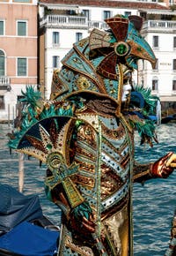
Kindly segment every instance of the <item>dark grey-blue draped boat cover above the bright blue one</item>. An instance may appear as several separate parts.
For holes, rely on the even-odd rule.
[[[43,216],[38,195],[24,195],[8,184],[0,184],[0,195],[0,231]]]

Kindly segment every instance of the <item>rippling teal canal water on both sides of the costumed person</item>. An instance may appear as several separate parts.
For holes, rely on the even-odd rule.
[[[18,154],[9,153],[8,124],[0,124],[0,183],[11,184],[18,189]],[[169,151],[176,153],[176,124],[161,124],[157,129],[158,144],[150,148],[140,146],[136,134],[136,160],[156,161]],[[46,167],[40,167],[33,158],[25,158],[25,194],[38,194],[44,215],[55,224],[60,223],[60,211],[47,200],[44,192]],[[134,184],[134,256],[162,256],[168,248],[172,216],[176,209],[176,171],[167,179],[152,179]]]

